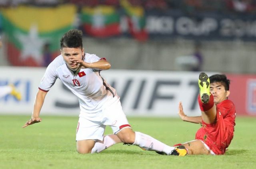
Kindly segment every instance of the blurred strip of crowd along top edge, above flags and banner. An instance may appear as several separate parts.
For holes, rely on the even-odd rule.
[[[256,0],[129,0],[129,2],[132,6],[142,6],[145,10],[256,13]],[[0,6],[18,6],[20,4],[56,6],[65,3],[90,7],[98,5],[120,7],[119,0],[1,0]]]

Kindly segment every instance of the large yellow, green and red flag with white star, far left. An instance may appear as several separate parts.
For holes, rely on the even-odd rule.
[[[8,60],[14,66],[47,66],[60,54],[60,38],[76,17],[74,5],[2,8]]]

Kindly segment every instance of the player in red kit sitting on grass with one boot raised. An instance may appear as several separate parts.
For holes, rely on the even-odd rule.
[[[228,99],[229,84],[230,80],[223,74],[208,78],[207,74],[201,73],[198,80],[198,103],[202,115],[186,116],[182,103],[179,103],[178,113],[183,121],[202,125],[196,132],[195,140],[178,144],[187,149],[188,155],[222,155],[230,145],[234,136],[236,110],[234,103]]]

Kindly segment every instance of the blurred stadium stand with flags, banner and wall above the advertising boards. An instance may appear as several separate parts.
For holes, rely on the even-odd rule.
[[[0,66],[48,66],[60,37],[78,28],[86,52],[117,69],[255,72],[256,0],[0,0],[0,7]]]

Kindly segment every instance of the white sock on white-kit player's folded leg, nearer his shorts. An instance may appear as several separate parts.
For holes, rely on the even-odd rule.
[[[92,153],[100,153],[101,151],[119,142],[120,139],[114,134],[104,135],[103,141],[98,140],[95,142],[95,145],[92,148]]]

